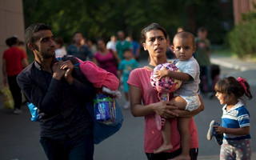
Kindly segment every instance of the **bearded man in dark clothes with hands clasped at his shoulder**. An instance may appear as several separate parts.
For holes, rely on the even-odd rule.
[[[18,74],[18,85],[28,102],[38,107],[40,142],[49,159],[93,159],[93,121],[86,110],[94,87],[82,75],[78,59],[55,58],[54,35],[50,26],[36,23],[25,32],[34,62]]]

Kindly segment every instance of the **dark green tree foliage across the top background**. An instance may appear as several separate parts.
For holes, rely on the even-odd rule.
[[[205,26],[212,42],[222,42],[224,10],[218,4],[210,0],[23,0],[26,26],[50,24],[55,36],[62,36],[65,42],[70,42],[75,31],[95,39],[124,30],[138,39],[142,28],[151,22],[164,26],[170,37],[178,26],[193,34]]]

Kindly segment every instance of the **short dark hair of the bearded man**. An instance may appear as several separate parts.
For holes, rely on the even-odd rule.
[[[25,30],[25,42],[26,44],[29,42],[35,42],[37,38],[34,37],[34,33],[40,30],[51,30],[49,25],[45,23],[34,23],[26,28]]]

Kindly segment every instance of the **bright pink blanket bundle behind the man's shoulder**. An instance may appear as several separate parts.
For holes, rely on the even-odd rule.
[[[82,74],[93,83],[95,88],[101,89],[102,86],[106,86],[110,90],[118,90],[119,80],[114,74],[96,66],[94,62],[83,62],[80,59],[78,61]]]

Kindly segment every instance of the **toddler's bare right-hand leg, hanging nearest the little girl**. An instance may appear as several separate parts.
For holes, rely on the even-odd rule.
[[[182,154],[172,160],[190,160],[190,118],[178,118],[178,130],[182,135]]]

